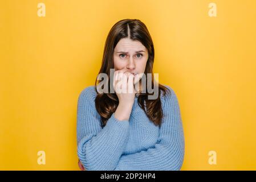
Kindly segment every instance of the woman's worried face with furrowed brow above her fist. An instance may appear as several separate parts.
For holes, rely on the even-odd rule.
[[[148,50],[141,42],[123,38],[116,44],[113,53],[115,71],[125,69],[134,74],[144,73],[147,60]]]

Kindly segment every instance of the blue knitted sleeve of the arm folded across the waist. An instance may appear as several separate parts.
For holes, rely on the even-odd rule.
[[[184,133],[180,107],[174,91],[163,99],[162,125],[155,146],[131,155],[121,155],[115,171],[180,170],[184,159]]]

